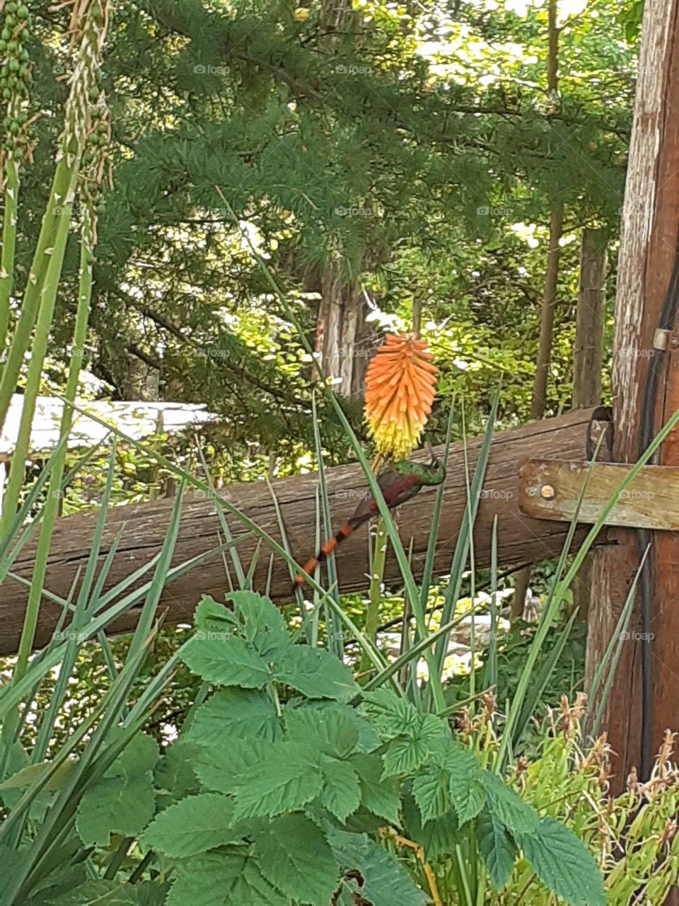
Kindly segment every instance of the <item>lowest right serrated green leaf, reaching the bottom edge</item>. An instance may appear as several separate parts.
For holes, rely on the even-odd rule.
[[[594,856],[565,824],[540,818],[537,833],[513,837],[550,891],[571,906],[606,906],[604,882]]]

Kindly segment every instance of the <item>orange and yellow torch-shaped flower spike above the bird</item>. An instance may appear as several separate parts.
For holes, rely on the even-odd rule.
[[[432,410],[438,369],[424,340],[387,333],[366,375],[366,420],[378,451],[406,458]]]

